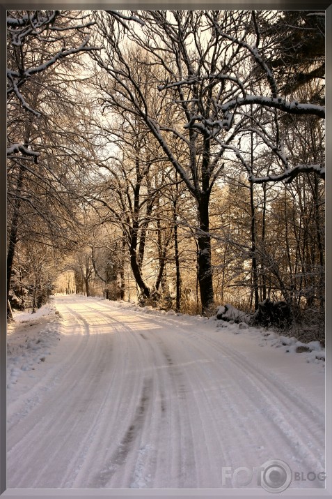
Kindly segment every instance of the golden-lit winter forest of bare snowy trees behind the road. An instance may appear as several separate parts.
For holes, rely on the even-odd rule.
[[[324,343],[324,11],[10,10],[7,297]]]

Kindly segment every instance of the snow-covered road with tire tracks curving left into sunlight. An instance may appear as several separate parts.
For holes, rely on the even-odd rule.
[[[8,488],[232,488],[271,459],[324,471],[321,366],[211,320],[54,303],[61,341],[8,408]]]

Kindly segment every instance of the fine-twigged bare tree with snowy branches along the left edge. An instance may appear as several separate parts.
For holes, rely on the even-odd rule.
[[[77,239],[74,187],[93,152],[86,112],[74,107],[75,54],[92,50],[92,24],[79,13],[8,13],[8,292],[19,241],[65,247]]]

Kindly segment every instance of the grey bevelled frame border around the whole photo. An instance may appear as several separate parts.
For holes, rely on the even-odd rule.
[[[4,77],[6,68],[6,10],[22,8],[59,8],[81,10],[85,9],[166,9],[180,8],[182,10],[196,10],[199,8],[211,8],[216,10],[227,9],[248,9],[258,10],[326,10],[326,442],[332,442],[332,3],[329,1],[304,1],[301,0],[243,0],[241,2],[230,0],[228,3],[216,3],[208,1],[177,1],[177,3],[164,2],[159,0],[132,0],[122,2],[121,0],[98,1],[91,3],[89,0],[80,3],[70,1],[40,1],[40,0],[19,0],[15,2],[0,3],[0,67],[3,70],[0,77],[0,496],[17,499],[24,498],[95,498],[104,496],[109,498],[129,498],[129,497],[273,497],[271,493],[260,489],[6,489],[6,78]],[[3,98],[2,98],[3,96]],[[328,135],[330,133],[330,135]],[[329,424],[328,424],[329,423]],[[326,445],[326,488],[325,489],[287,489],[278,494],[283,498],[332,498],[332,446]],[[331,474],[329,473],[331,470]],[[277,496],[277,497],[278,497]]]

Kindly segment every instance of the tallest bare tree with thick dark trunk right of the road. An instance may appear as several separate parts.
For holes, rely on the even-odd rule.
[[[200,219],[200,295],[203,310],[207,311],[214,300],[209,199],[223,167],[221,157],[225,147],[216,149],[213,134],[203,124],[198,126],[198,119],[203,117],[208,122],[217,119],[221,88],[225,89],[225,81],[233,77],[210,75],[222,74],[228,59],[235,54],[219,43],[214,27],[207,30],[205,14],[200,11],[146,11],[138,16],[145,23],[139,33],[129,24],[124,31],[123,22],[117,24],[110,16],[97,15],[100,33],[107,43],[105,52],[95,55],[95,59],[115,82],[113,91],[104,89],[104,102],[143,121],[196,200]],[[141,52],[134,50],[133,45],[126,46],[124,37],[141,47]],[[139,71],[132,70],[134,58],[139,61]],[[159,73],[148,71],[155,66],[159,66]],[[141,91],[144,77],[151,88],[154,85],[155,91],[159,91],[153,103]],[[143,84],[146,83],[145,79]],[[160,107],[164,110],[162,117],[158,112]],[[230,140],[231,136],[226,138],[226,142]],[[177,149],[181,150],[180,155]]]

